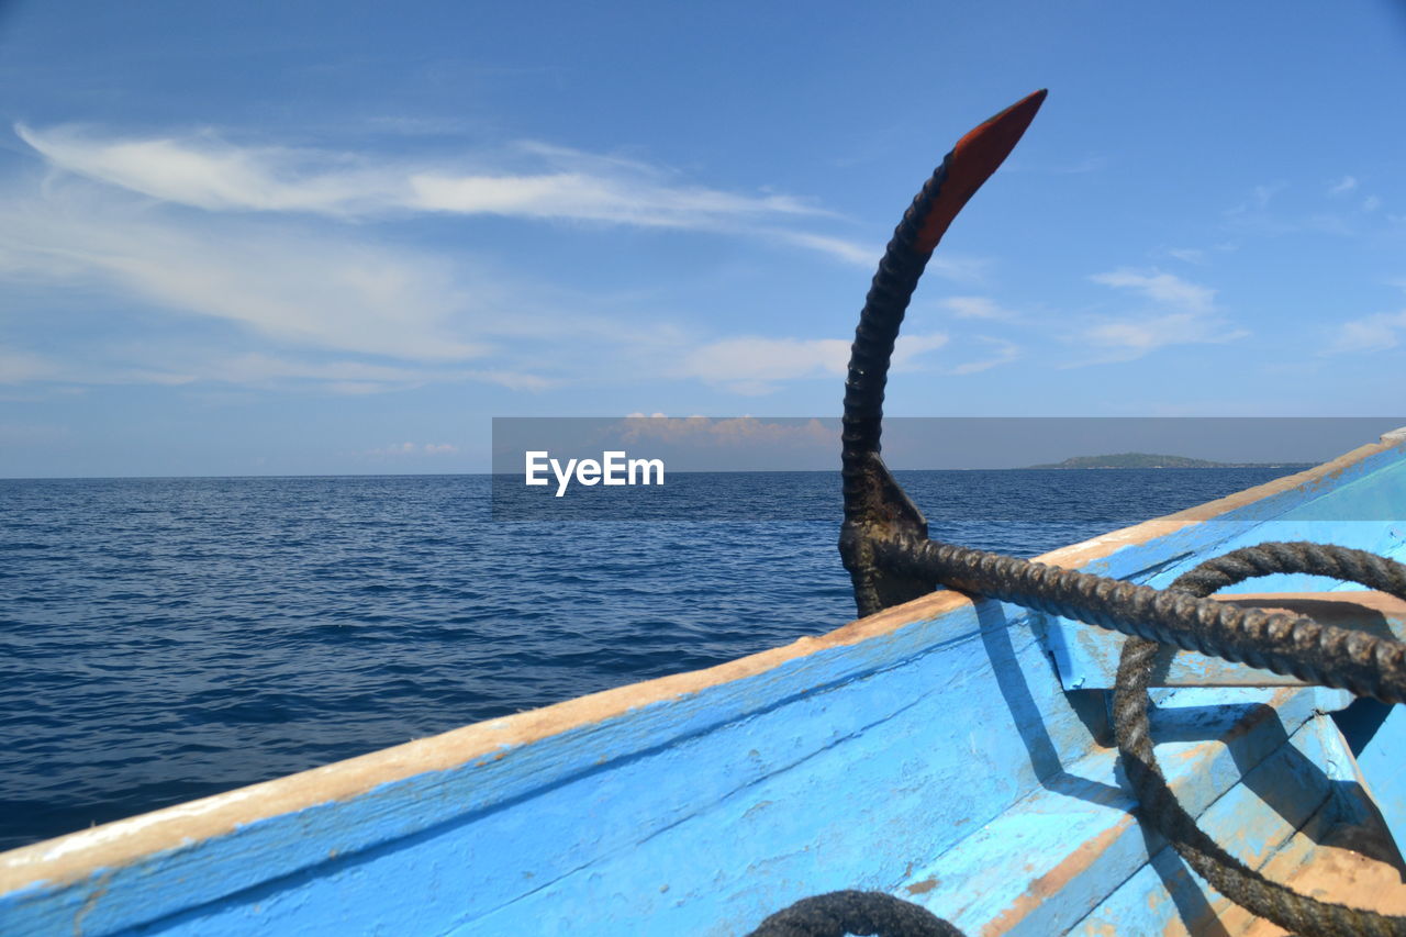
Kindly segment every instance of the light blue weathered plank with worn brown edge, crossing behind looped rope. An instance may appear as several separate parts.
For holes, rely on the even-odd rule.
[[[1322,689],[1181,689],[1166,696],[1153,734],[1175,739],[1157,746],[1159,757],[1182,805],[1199,816],[1324,705],[1344,702],[1343,694]],[[1115,765],[1116,751],[1105,748],[1046,778],[897,893],[921,895],[914,900],[973,934],[1063,933],[1157,848],[1149,850]],[[1302,799],[1295,789],[1286,785],[1285,798]],[[1327,791],[1312,796],[1316,803]]]

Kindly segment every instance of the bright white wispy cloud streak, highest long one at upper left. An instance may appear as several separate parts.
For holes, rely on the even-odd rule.
[[[148,139],[104,138],[72,127],[20,125],[15,132],[59,169],[208,211],[335,217],[429,211],[671,228],[830,214],[789,196],[676,184],[668,173],[640,162],[540,144],[520,145],[512,159],[534,162],[536,170],[465,172],[350,153],[239,146],[212,132]],[[486,160],[470,156],[465,162]]]

